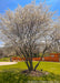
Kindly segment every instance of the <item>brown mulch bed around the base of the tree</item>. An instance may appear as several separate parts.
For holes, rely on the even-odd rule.
[[[42,75],[48,75],[49,72],[43,72],[43,71],[28,71],[28,70],[24,70],[22,71],[21,73],[23,74],[27,74],[27,75],[30,75],[30,76],[42,76]]]

